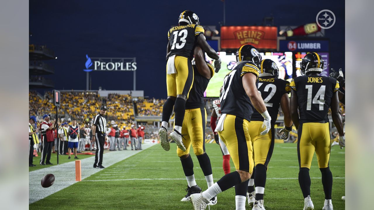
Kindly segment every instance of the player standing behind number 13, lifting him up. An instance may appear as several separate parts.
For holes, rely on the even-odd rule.
[[[187,179],[187,195],[181,201],[190,201],[190,195],[201,192],[197,186],[194,173],[193,161],[190,155],[192,144],[193,152],[199,160],[200,168],[206,179],[208,188],[213,185],[212,166],[208,154],[205,152],[205,128],[206,110],[204,105],[204,92],[208,87],[209,80],[214,75],[214,67],[205,62],[204,53],[200,46],[194,48],[194,82],[190,91],[190,96],[186,101],[186,111],[183,119],[182,133],[183,145],[186,151],[177,147],[177,155],[180,157],[184,175]],[[210,204],[217,203],[217,197],[211,199]]]

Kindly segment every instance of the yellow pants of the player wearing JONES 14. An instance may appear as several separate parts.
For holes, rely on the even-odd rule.
[[[298,129],[297,156],[299,167],[310,169],[314,151],[319,168],[327,168],[331,141],[328,123],[302,123]]]

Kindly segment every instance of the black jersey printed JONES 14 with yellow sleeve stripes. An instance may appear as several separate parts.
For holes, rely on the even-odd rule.
[[[339,90],[339,82],[331,77],[304,75],[291,80],[297,93],[300,123],[327,123],[331,98]]]

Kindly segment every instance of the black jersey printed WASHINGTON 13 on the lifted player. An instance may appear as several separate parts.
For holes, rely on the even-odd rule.
[[[204,34],[204,28],[201,25],[179,25],[172,27],[168,31],[170,52],[166,60],[172,55],[193,58],[193,48],[196,44],[197,36]]]

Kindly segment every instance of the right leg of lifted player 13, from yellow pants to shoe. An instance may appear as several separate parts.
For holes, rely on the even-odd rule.
[[[175,57],[175,68],[177,74],[175,77],[177,86],[177,99],[174,104],[174,130],[170,133],[170,138],[177,143],[177,146],[185,150],[182,144],[182,124],[184,119],[184,111],[186,109],[186,100],[190,94],[193,84],[193,68],[189,58],[182,56]]]

